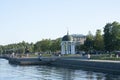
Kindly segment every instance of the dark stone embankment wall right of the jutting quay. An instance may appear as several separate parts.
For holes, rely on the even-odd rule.
[[[52,62],[51,64],[59,67],[120,74],[120,62],[118,61],[61,58]]]

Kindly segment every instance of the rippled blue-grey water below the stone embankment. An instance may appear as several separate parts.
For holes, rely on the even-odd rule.
[[[10,65],[0,59],[0,80],[120,80],[120,75],[50,66]]]

